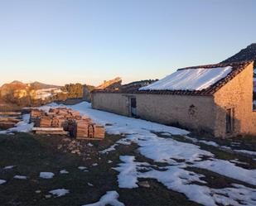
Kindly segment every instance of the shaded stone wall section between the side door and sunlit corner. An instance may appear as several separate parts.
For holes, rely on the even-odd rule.
[[[140,93],[137,103],[142,119],[214,133],[212,97]]]

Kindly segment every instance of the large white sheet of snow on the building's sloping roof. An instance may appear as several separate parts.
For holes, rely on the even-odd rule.
[[[232,71],[231,66],[215,68],[178,69],[153,84],[139,90],[202,90],[225,78]]]

